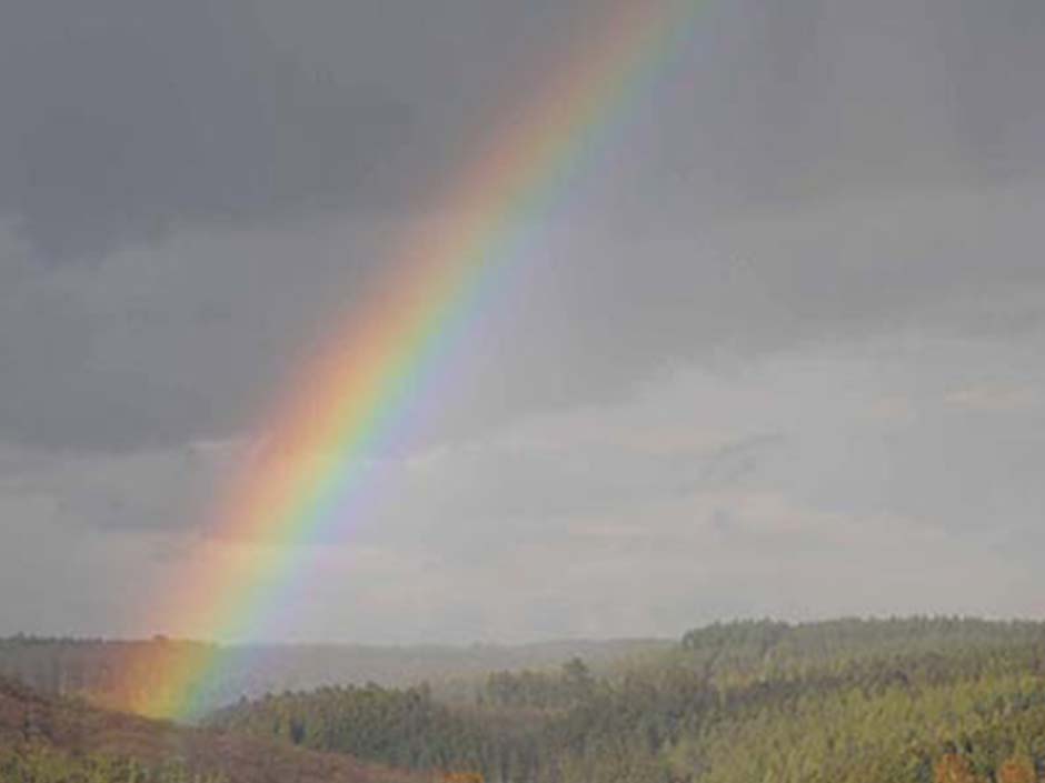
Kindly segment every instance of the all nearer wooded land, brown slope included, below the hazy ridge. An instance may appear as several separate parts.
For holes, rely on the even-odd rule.
[[[19,654],[31,646],[19,644]],[[54,642],[39,649],[40,671],[69,682],[59,664],[73,659],[54,655]],[[197,727],[0,681],[3,783],[475,775],[486,783],[1038,783],[1045,623],[715,624],[616,665],[573,656],[474,675],[454,689],[283,691],[242,699]]]

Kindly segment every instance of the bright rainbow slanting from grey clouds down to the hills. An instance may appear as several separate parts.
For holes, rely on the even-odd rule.
[[[179,634],[249,639],[307,573],[302,544],[330,540],[357,515],[370,455],[424,403],[440,362],[501,285],[509,259],[525,255],[511,251],[681,48],[700,0],[607,4],[599,29],[535,100],[495,123],[501,127],[491,143],[437,198],[432,212],[452,220],[411,227],[396,243],[379,294],[330,332],[266,419],[263,448],[243,465],[212,525],[217,540],[259,545],[193,559],[165,591],[167,605],[149,608],[151,618]],[[137,710],[190,720],[208,683],[235,665],[226,648],[187,649],[138,662],[148,684],[136,690]]]

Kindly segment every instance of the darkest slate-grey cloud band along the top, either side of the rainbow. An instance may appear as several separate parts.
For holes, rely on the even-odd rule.
[[[604,9],[9,0],[0,219],[53,261],[186,225],[401,213]],[[709,3],[618,198],[1041,175],[1043,31],[1035,0]]]

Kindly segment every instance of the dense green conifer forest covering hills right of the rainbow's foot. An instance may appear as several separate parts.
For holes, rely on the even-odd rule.
[[[1032,783],[1045,624],[740,622],[593,674],[497,672],[467,701],[324,687],[218,712],[226,731],[504,783]]]

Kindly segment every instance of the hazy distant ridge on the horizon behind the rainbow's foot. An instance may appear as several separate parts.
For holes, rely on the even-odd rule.
[[[470,693],[470,682],[488,672],[550,669],[581,657],[596,670],[677,645],[668,640],[554,641],[520,645],[470,646],[270,645],[231,646],[225,651],[235,672],[215,684],[208,706],[241,697],[300,691],[325,685],[377,683],[407,687],[428,682],[440,695]],[[141,662],[191,654],[196,642],[167,640],[104,641],[34,639],[0,640],[0,676],[57,695],[82,695],[96,703],[130,709],[140,703],[135,687],[162,687]],[[146,654],[148,653],[148,654]],[[153,666],[155,669],[155,666]]]

